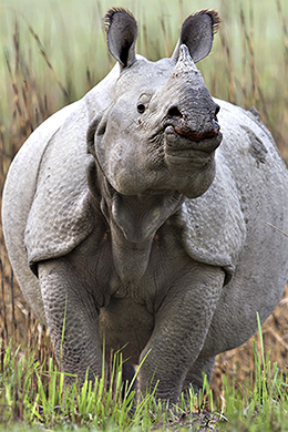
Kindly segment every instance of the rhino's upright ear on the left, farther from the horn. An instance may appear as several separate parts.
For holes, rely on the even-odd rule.
[[[104,17],[107,48],[123,68],[128,68],[136,60],[135,42],[137,22],[133,14],[123,8],[113,8]]]

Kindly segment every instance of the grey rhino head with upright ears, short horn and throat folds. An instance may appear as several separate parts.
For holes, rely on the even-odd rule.
[[[123,235],[137,245],[133,259],[135,249],[145,249],[147,259],[146,243],[183,197],[204,194],[214,179],[219,106],[195,63],[209,53],[219,21],[208,10],[188,17],[173,55],[151,62],[135,54],[133,16],[112,9],[105,17],[107,47],[120,73],[109,107],[90,125],[88,152],[96,174],[92,169],[89,182],[112,232],[115,263],[128,249]],[[146,259],[137,260],[143,269]],[[119,271],[123,266],[121,259]]]

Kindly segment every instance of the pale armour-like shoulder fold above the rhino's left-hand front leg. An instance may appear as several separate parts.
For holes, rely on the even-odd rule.
[[[24,232],[32,269],[40,260],[66,255],[92,230],[85,175],[88,124],[82,104],[54,133],[42,154]]]

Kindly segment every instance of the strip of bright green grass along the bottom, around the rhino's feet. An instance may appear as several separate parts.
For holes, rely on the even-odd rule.
[[[103,372],[94,384],[85,381],[82,389],[75,383],[63,390],[64,376],[51,359],[45,370],[31,352],[12,353],[9,346],[0,374],[0,431],[287,431],[288,384],[277,364],[266,359],[259,333],[249,382],[236,388],[225,377],[222,398],[215,400],[204,379],[204,391],[196,395],[191,390],[188,403],[181,400],[172,410],[154,393],[134,410],[134,392],[126,391],[122,399],[120,356],[107,385]]]

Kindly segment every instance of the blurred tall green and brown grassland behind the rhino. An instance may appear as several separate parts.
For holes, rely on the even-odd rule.
[[[48,115],[81,97],[113,65],[101,19],[113,6],[128,8],[138,21],[137,52],[156,60],[169,55],[183,20],[199,9],[223,18],[209,58],[202,61],[214,96],[245,107],[255,105],[288,161],[288,2],[280,0],[95,1],[0,0],[0,187],[11,157]],[[41,344],[47,330],[27,308],[11,277],[1,238],[0,330],[2,350],[14,343]],[[286,370],[286,297],[265,327],[266,351]],[[39,348],[39,349],[40,349]],[[49,352],[50,348],[47,348]],[[42,356],[42,354],[41,354]],[[254,367],[253,342],[218,357],[215,394],[222,377],[237,382]]]

